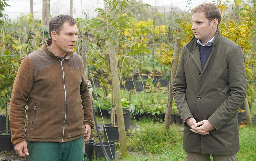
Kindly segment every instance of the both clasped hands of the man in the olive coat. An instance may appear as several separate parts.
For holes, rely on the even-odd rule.
[[[215,129],[209,120],[203,120],[196,123],[196,120],[193,117],[189,117],[186,120],[186,123],[191,128],[191,131],[200,135],[207,135],[209,134],[209,131]]]

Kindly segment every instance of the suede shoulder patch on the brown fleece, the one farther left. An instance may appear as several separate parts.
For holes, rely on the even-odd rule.
[[[43,48],[28,54],[26,57],[31,60],[35,71],[51,67],[53,64],[51,56]]]

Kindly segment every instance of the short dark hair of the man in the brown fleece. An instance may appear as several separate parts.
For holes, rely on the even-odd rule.
[[[63,24],[68,22],[70,26],[76,24],[76,20],[69,15],[58,15],[50,19],[49,21],[49,35],[52,38],[51,32],[55,31],[60,35],[60,30],[63,28]]]

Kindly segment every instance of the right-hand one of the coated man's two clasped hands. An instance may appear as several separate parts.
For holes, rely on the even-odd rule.
[[[198,134],[201,135],[207,135],[209,134],[209,131],[214,130],[215,127],[212,125],[212,123],[209,120],[203,120],[200,122],[197,122],[197,127],[192,128],[191,131],[198,132]],[[205,131],[205,133],[201,133],[200,131]]]

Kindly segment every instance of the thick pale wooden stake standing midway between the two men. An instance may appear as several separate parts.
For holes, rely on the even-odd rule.
[[[125,136],[125,128],[124,128],[124,115],[123,115],[118,74],[117,74],[116,50],[115,50],[115,46],[109,46],[108,49],[109,49],[109,61],[110,61],[110,68],[111,68],[111,75],[112,75],[112,88],[113,88],[115,105],[116,105],[116,114],[117,114],[116,116],[117,116],[117,124],[118,124],[121,157],[124,158],[128,156],[128,153],[127,153],[127,144],[126,144],[126,136]]]

